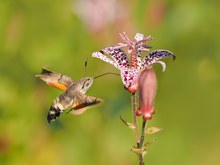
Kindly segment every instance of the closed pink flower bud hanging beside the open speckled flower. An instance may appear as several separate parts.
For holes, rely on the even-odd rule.
[[[157,90],[157,78],[153,68],[146,68],[140,75],[139,88],[139,110],[144,120],[152,119],[154,111],[154,99]]]

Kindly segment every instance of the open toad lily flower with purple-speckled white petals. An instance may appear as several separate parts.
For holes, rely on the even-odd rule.
[[[166,64],[159,61],[163,58],[175,56],[168,50],[154,50],[150,52],[141,60],[143,52],[149,51],[151,48],[145,45],[145,42],[152,40],[151,36],[145,37],[143,34],[137,33],[133,41],[131,41],[125,33],[121,33],[120,37],[124,43],[119,43],[116,46],[108,46],[99,52],[92,53],[92,57],[99,58],[109,64],[112,64],[121,72],[121,79],[124,87],[131,93],[135,93],[138,90],[138,79],[146,68],[151,68],[154,63],[159,63],[163,67],[163,71],[166,70]],[[122,48],[128,48],[128,54],[130,60]],[[106,56],[108,54],[111,58]]]

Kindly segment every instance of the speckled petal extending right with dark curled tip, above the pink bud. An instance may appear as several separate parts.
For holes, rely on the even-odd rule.
[[[149,55],[144,57],[142,61],[142,69],[151,66],[152,64],[154,64],[155,62],[157,62],[162,58],[166,58],[170,56],[173,56],[173,60],[175,60],[176,56],[174,56],[174,54],[168,50],[154,50],[150,52]]]

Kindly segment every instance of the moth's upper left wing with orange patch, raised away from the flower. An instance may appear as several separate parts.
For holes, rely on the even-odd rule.
[[[62,91],[66,91],[67,87],[70,84],[74,83],[74,80],[72,80],[70,77],[60,73],[49,71],[45,68],[43,68],[41,74],[36,75],[36,77],[39,77],[41,80],[45,81],[48,85]]]

